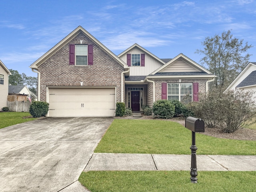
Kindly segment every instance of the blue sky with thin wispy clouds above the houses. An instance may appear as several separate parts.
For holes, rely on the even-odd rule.
[[[232,30],[254,46],[255,0],[1,0],[0,60],[36,76],[29,66],[78,26],[118,55],[134,43],[159,58],[180,53],[200,64],[207,36]]]

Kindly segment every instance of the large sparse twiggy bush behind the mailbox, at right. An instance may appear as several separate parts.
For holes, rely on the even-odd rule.
[[[192,102],[190,108],[206,126],[232,133],[254,122],[256,106],[252,96],[252,91],[212,89],[199,94],[200,102]]]

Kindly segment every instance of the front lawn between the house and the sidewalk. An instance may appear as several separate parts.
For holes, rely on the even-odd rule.
[[[115,119],[96,153],[191,154],[191,131],[162,120]],[[196,133],[197,154],[256,155],[256,141],[214,138]]]

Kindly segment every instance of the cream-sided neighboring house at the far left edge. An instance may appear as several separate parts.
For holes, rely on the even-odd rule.
[[[11,75],[10,71],[0,60],[0,111],[7,106],[9,75]]]

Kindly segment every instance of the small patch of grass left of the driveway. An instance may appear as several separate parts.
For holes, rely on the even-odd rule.
[[[27,122],[36,118],[22,117],[31,116],[29,112],[1,112],[0,113],[0,128],[8,127],[11,125]]]

